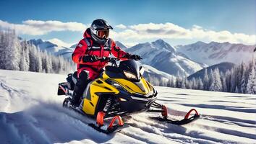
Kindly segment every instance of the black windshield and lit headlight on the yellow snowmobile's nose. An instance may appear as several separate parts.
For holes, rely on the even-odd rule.
[[[121,61],[119,68],[128,79],[132,81],[140,81],[140,67],[137,65],[135,60]]]

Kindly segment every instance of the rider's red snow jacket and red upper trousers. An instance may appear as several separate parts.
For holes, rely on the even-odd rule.
[[[116,58],[120,58],[121,60],[126,60],[127,58],[122,58],[126,52],[121,50],[114,40],[108,39],[106,45],[99,45],[96,42],[93,42],[93,39],[90,36],[90,29],[88,28],[84,33],[84,39],[80,40],[72,53],[72,60],[74,63],[77,63],[77,71],[78,76],[81,71],[88,71],[90,75],[90,79],[97,78],[100,74],[102,68],[104,68],[108,62],[101,62],[97,60],[93,63],[90,62],[82,62],[82,57],[84,55],[95,55],[97,57],[108,57],[109,54],[113,54]]]

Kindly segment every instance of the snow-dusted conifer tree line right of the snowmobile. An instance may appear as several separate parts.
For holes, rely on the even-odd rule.
[[[199,89],[205,91],[223,91],[241,94],[256,94],[256,63],[254,58],[246,65],[241,63],[226,73],[221,73],[218,68],[207,68],[203,78],[192,78],[176,76],[168,81],[159,80],[153,76],[148,76],[148,80],[155,86],[168,86],[182,89]]]

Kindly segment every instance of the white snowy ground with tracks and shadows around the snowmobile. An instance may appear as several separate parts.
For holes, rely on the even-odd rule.
[[[200,119],[176,126],[135,114],[121,132],[105,135],[61,107],[56,90],[65,78],[0,70],[0,143],[256,143],[255,95],[157,87],[174,119],[192,107]]]

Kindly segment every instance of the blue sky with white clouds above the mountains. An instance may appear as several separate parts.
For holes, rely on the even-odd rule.
[[[72,45],[94,19],[114,27],[111,37],[127,46],[166,40],[256,43],[256,0],[1,0],[0,29],[26,40]]]

